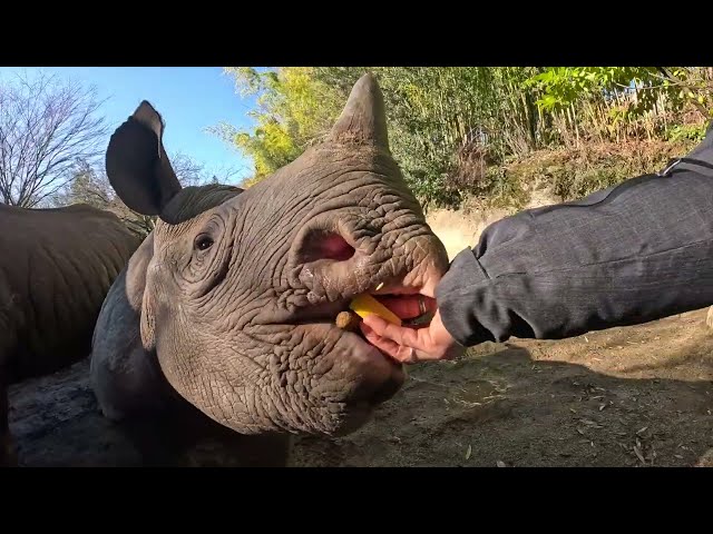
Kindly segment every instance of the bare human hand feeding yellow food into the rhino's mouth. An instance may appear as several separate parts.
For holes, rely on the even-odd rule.
[[[436,315],[428,325],[397,326],[375,314],[368,315],[360,323],[361,332],[369,343],[388,356],[406,364],[419,362],[452,359],[462,354],[465,347],[453,339],[441,320],[436,300],[421,297],[418,299],[399,299],[384,301],[384,306],[401,318],[417,317],[420,307],[426,307]]]

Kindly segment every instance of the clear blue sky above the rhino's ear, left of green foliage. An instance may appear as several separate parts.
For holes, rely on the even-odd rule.
[[[185,154],[218,176],[234,169],[234,181],[252,172],[250,159],[205,131],[222,121],[236,127],[252,123],[246,113],[254,100],[235,92],[233,78],[224,75],[222,67],[0,67],[0,79],[39,70],[94,86],[97,96],[106,99],[101,111],[110,131],[145,99],[164,117],[164,144],[169,154]]]

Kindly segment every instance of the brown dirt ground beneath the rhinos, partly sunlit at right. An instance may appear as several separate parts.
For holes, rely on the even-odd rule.
[[[705,313],[568,340],[488,343],[459,362],[411,366],[372,422],[344,438],[297,439],[292,464],[713,466]],[[12,387],[22,465],[140,463],[100,416],[87,367]]]

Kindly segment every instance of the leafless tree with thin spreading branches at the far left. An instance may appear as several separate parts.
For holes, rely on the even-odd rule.
[[[92,162],[107,129],[94,89],[40,73],[0,86],[0,199],[33,207]]]

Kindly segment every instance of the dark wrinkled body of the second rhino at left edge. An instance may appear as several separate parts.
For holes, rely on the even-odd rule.
[[[0,465],[13,465],[7,386],[89,354],[101,303],[140,240],[85,205],[0,205]]]

